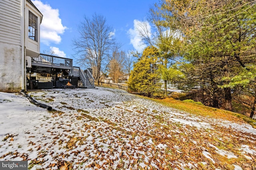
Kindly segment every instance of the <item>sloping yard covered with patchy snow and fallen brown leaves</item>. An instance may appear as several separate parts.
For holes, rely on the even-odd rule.
[[[123,90],[0,92],[0,161],[36,170],[256,167],[256,129],[191,115]]]

